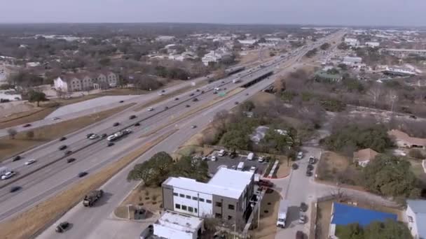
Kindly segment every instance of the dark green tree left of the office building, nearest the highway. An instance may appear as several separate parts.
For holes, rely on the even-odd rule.
[[[146,186],[160,186],[169,177],[172,166],[172,157],[166,152],[158,152],[148,161],[136,164],[129,172],[128,180],[143,180]]]

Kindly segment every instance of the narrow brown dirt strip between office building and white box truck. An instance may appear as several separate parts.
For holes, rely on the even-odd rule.
[[[270,194],[265,194],[261,204],[259,227],[254,229],[251,233],[253,238],[275,239],[280,199],[280,194],[276,191],[272,191]]]

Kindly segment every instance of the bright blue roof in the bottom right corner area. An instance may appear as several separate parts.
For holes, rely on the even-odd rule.
[[[341,203],[333,203],[333,205],[334,215],[331,224],[348,225],[358,223],[360,226],[366,226],[374,221],[385,222],[386,219],[397,220],[397,215],[392,213],[357,208]]]

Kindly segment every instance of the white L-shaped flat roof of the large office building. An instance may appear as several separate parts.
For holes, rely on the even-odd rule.
[[[163,184],[172,187],[214,194],[228,198],[240,198],[247,185],[252,182],[254,173],[220,168],[209,182],[197,182],[191,178],[168,178]]]

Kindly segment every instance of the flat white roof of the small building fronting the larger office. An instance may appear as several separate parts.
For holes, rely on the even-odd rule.
[[[191,217],[177,212],[166,211],[155,224],[175,231],[194,233],[200,229],[202,221],[203,219],[200,217]]]

